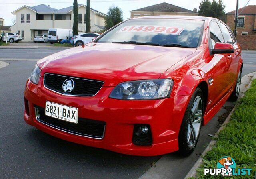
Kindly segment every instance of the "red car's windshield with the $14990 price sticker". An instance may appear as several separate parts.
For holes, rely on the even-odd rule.
[[[134,43],[195,48],[202,34],[202,20],[132,19],[106,35],[99,43]]]

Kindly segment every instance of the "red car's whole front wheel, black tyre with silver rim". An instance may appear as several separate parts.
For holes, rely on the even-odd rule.
[[[204,98],[200,88],[196,88],[184,114],[178,136],[179,153],[190,155],[196,148],[204,114]]]

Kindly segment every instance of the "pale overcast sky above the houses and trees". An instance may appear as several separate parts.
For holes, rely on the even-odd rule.
[[[106,14],[108,8],[112,5],[122,9],[124,20],[130,18],[130,11],[162,2],[167,2],[176,6],[180,6],[189,10],[199,7],[202,0],[90,0],[91,8]],[[230,12],[236,8],[236,0],[222,0],[226,6],[225,11]],[[246,5],[248,0],[239,0],[239,8]],[[5,19],[5,26],[12,25],[12,19],[15,18],[11,12],[27,5],[36,6],[39,4],[50,5],[52,8],[61,9],[73,5],[73,0],[0,0],[0,18]],[[86,0],[78,0],[78,4],[86,4]],[[249,0],[247,5],[256,5],[256,0]]]

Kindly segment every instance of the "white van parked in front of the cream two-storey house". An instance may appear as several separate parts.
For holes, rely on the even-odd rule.
[[[69,37],[73,37],[72,29],[49,29],[48,31],[48,41],[50,43],[58,43],[64,39],[68,39]]]

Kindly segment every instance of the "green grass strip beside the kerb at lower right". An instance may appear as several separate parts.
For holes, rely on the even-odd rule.
[[[254,179],[256,171],[256,79],[238,101],[230,122],[218,134],[216,144],[204,156],[203,164],[197,169],[199,179],[222,179],[221,175],[204,175],[204,168],[216,168],[218,159],[230,156],[236,168],[252,168],[251,175],[232,176],[228,179]]]

